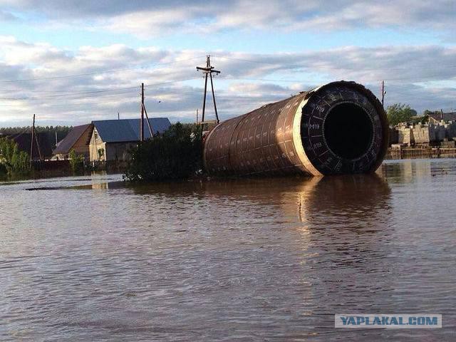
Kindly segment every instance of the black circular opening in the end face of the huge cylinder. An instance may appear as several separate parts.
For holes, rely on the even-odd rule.
[[[357,159],[371,145],[373,124],[360,106],[341,103],[326,115],[324,135],[329,149],[338,157]]]

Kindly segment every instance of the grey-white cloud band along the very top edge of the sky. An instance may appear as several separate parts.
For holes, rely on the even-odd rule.
[[[426,28],[454,31],[456,4],[435,1],[264,0],[58,1],[0,0],[0,6],[47,21],[137,36],[185,30],[334,31],[347,28]],[[88,24],[89,23],[89,24]]]

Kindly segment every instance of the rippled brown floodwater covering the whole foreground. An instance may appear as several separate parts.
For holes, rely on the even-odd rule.
[[[456,160],[120,180],[0,183],[0,341],[456,340]],[[334,328],[346,313],[443,328]]]

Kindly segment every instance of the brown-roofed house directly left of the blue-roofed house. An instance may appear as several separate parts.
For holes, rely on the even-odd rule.
[[[66,160],[70,151],[74,150],[77,155],[83,155],[89,159],[88,144],[92,137],[92,131],[93,125],[91,123],[73,127],[70,133],[58,142],[55,150],[53,150],[53,155],[60,160]]]

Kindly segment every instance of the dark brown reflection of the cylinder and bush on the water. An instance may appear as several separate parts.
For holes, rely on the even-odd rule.
[[[275,214],[288,218],[298,214],[300,222],[308,223],[324,214],[346,214],[353,219],[357,214],[361,215],[360,219],[365,214],[378,217],[379,212],[388,209],[390,194],[387,183],[375,174],[166,182],[135,186],[133,190],[140,195],[198,197],[197,202],[210,202],[214,206],[226,206],[227,200],[239,206],[257,204],[257,210],[275,206],[281,208]]]

